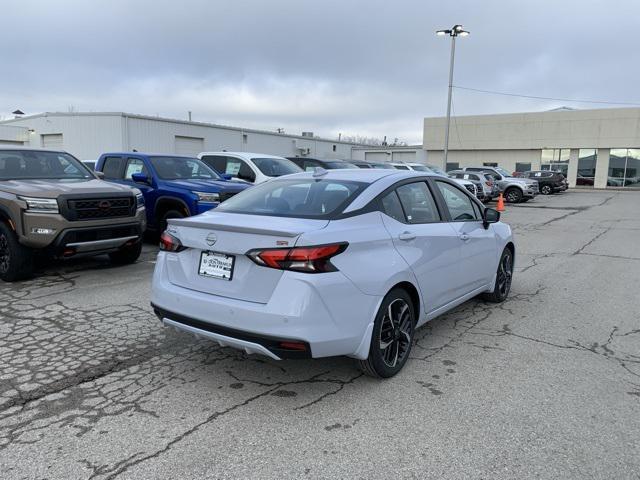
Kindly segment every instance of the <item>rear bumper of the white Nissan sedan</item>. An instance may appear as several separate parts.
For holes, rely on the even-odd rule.
[[[165,325],[271,358],[368,355],[369,325],[382,298],[363,294],[342,273],[285,272],[269,301],[255,303],[172,284],[168,255],[158,254],[151,289],[151,303]],[[308,348],[292,352],[280,342]]]

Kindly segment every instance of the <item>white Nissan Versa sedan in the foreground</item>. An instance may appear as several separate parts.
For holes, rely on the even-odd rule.
[[[348,355],[391,377],[417,327],[478,294],[507,297],[515,246],[499,219],[429,173],[287,175],[169,220],[152,306],[165,325],[247,353]]]

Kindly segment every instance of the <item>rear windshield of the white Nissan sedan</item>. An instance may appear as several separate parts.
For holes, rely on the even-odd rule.
[[[310,178],[275,180],[245,190],[216,211],[293,218],[330,218],[344,210],[366,183]]]

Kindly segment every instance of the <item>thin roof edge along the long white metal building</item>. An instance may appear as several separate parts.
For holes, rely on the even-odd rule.
[[[179,118],[168,118],[168,117],[154,117],[153,115],[142,115],[142,114],[137,114],[137,113],[127,113],[127,112],[42,112],[42,113],[36,113],[34,115],[25,115],[24,117],[20,117],[20,118],[12,118],[12,119],[8,119],[8,120],[3,120],[0,121],[0,125],[11,125],[12,123],[16,122],[16,121],[23,121],[23,120],[30,120],[30,119],[34,119],[34,118],[41,118],[41,117],[82,117],[82,116],[95,116],[95,117],[123,117],[123,118],[136,118],[136,119],[141,119],[141,120],[154,120],[156,122],[166,122],[166,123],[180,123],[183,125],[195,125],[195,126],[199,126],[199,127],[210,127],[210,128],[222,128],[225,130],[232,130],[232,131],[236,131],[236,132],[242,132],[242,133],[258,133],[258,134],[262,134],[262,135],[276,135],[276,136],[282,136],[282,137],[288,137],[288,138],[296,138],[296,139],[300,139],[300,140],[308,140],[308,141],[314,141],[314,140],[320,140],[320,141],[324,141],[324,142],[332,142],[332,143],[336,143],[336,144],[342,144],[342,145],[358,145],[358,146],[365,146],[362,143],[354,143],[354,142],[345,142],[344,140],[334,140],[331,138],[324,138],[324,137],[305,137],[303,135],[295,135],[295,134],[291,134],[291,133],[278,133],[278,132],[272,132],[270,130],[260,130],[257,128],[242,128],[242,127],[234,127],[234,126],[230,126],[230,125],[220,125],[218,123],[211,123],[211,122],[194,122],[194,121],[189,121],[189,120],[181,120]]]

